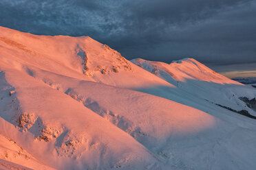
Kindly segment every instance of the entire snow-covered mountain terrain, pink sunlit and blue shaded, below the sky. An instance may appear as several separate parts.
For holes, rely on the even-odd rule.
[[[255,169],[256,120],[237,114],[256,116],[255,89],[191,58],[0,27],[0,168]]]

